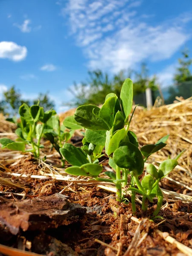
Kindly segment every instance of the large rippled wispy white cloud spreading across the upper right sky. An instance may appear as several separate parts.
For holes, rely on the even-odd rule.
[[[164,60],[190,38],[185,29],[189,15],[152,26],[147,23],[148,14],[137,13],[141,4],[130,0],[66,0],[61,13],[69,19],[70,34],[83,49],[89,68],[117,72],[145,59]]]

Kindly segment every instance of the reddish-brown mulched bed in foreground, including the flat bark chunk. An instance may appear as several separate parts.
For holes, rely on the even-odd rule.
[[[131,203],[118,203],[114,193],[97,186],[73,183],[59,194],[70,181],[52,180],[50,177],[12,177],[6,174],[10,171],[21,175],[41,175],[41,166],[30,155],[20,158],[16,164],[9,163],[8,159],[1,164],[7,168],[6,171],[0,169],[2,177],[25,186],[25,190],[0,187],[0,240],[3,245],[25,253],[49,256],[182,255],[175,244],[170,244],[157,234],[158,228],[192,248],[190,204],[169,201],[169,205],[159,214],[163,221],[158,218],[150,221],[153,207],[144,215],[140,204],[137,204],[135,217],[142,221],[139,226],[132,218]],[[182,192],[171,181],[163,183],[163,187]],[[21,193],[22,197],[17,195]],[[73,209],[64,217],[62,212],[74,207],[76,210]]]

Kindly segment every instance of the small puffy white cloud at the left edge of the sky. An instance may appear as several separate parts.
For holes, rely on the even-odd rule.
[[[0,58],[8,58],[12,61],[22,61],[26,58],[27,48],[14,42],[0,42]]]

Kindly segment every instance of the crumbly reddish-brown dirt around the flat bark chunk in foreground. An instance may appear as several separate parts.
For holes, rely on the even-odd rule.
[[[39,174],[38,164],[31,156],[22,158],[15,166],[9,166],[9,164],[7,164],[7,167],[17,173]],[[3,210],[4,217],[8,216],[7,219],[9,221],[12,220],[12,224],[15,223],[14,217],[19,217],[18,219],[21,220],[20,214],[23,214],[23,212],[27,212],[27,219],[29,219],[29,215],[31,214],[29,214],[29,209],[33,209],[31,204],[35,205],[36,201],[38,202],[38,207],[43,207],[46,201],[49,201],[49,198],[51,199],[52,195],[55,195],[55,192],[60,192],[61,189],[68,184],[68,182],[49,180],[49,178],[46,180],[17,178],[17,182],[21,183],[21,181],[28,187],[26,194],[26,198],[28,199],[23,200],[17,195],[7,194],[3,195],[3,198],[8,199],[9,202],[3,201],[0,204],[0,215]],[[166,184],[164,184],[164,186],[166,186]],[[169,188],[170,186],[171,184],[169,183]],[[0,191],[23,192],[20,188],[14,189],[8,187],[0,187]],[[39,194],[42,198],[37,197]],[[20,226],[20,228],[17,229],[17,234],[13,235],[10,225],[5,225],[7,223],[4,222],[0,226],[1,244],[20,248],[20,240],[22,240],[23,247],[26,251],[33,251],[49,256],[113,256],[117,255],[117,253],[121,256],[125,253],[138,227],[138,224],[131,220],[131,203],[119,204],[116,202],[114,194],[98,187],[81,188],[77,185],[72,185],[64,192],[64,195],[68,196],[66,205],[81,204],[82,207],[86,207],[87,213],[78,217],[75,222],[67,223],[68,225],[62,225],[61,221],[58,220],[54,222],[54,225],[50,226],[49,221],[44,219],[45,223],[43,228],[40,225],[38,227],[35,222],[37,219],[35,219],[34,216],[38,216],[38,211],[34,208],[34,219],[30,221],[30,226],[34,225],[34,228],[32,228],[32,230],[26,230]],[[39,199],[44,199],[44,204],[39,204]],[[49,204],[48,208],[52,208],[51,204]],[[176,256],[177,253],[179,253],[176,246],[166,242],[154,231],[154,226],[161,220],[156,219],[152,222],[146,219],[149,218],[152,209],[153,207],[151,206],[148,212],[143,214],[140,205],[137,204],[137,218],[140,218],[140,220],[145,218],[144,223],[140,226],[140,238],[145,233],[147,233],[147,235],[140,246],[136,247],[136,245],[134,245],[134,247],[131,248],[128,255]],[[177,241],[192,248],[191,212],[192,206],[189,204],[184,204],[181,201],[169,203],[166,209],[160,211],[160,215],[166,221],[160,224],[158,229],[163,232],[168,232],[172,237],[177,239]],[[49,212],[49,215],[52,214]],[[41,219],[43,215],[39,216],[41,216],[39,217]],[[117,250],[119,249],[119,252],[102,246],[96,242],[95,239],[110,244]],[[28,246],[29,244],[31,244],[30,247]]]

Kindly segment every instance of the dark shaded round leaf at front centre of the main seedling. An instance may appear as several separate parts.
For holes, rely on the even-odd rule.
[[[144,161],[140,150],[130,142],[123,142],[113,153],[113,160],[120,168],[129,169],[134,176],[143,173]]]

